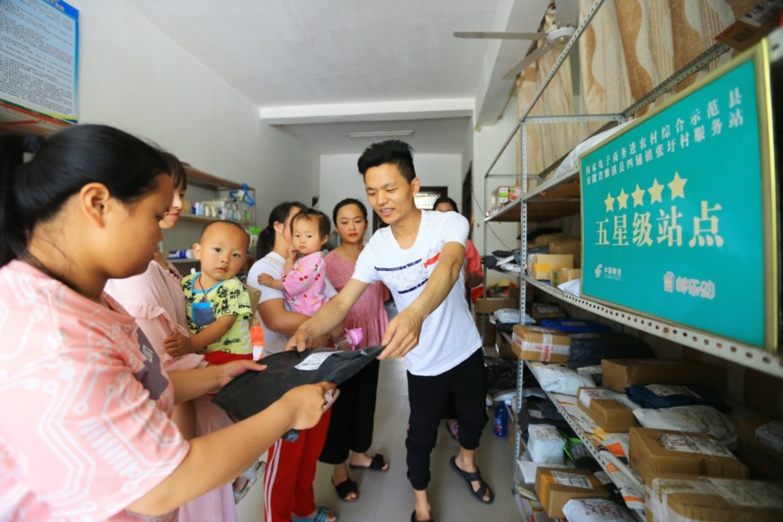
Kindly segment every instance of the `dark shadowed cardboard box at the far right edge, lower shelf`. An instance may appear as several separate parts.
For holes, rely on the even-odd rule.
[[[769,479],[783,480],[783,420],[743,417],[737,431],[743,463]]]

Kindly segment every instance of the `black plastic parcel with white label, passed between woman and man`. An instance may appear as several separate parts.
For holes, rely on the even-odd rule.
[[[262,372],[246,372],[223,386],[212,398],[235,419],[242,420],[266,410],[285,392],[302,384],[329,381],[345,383],[381,354],[383,347],[371,347],[354,352],[335,348],[310,348],[303,352],[281,352],[266,356],[258,363],[266,365]],[[289,432],[290,434],[290,432]],[[287,439],[295,440],[293,434]]]

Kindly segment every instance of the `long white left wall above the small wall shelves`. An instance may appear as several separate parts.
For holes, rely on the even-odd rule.
[[[276,203],[309,204],[319,192],[318,154],[263,124],[256,104],[129,3],[69,3],[80,20],[80,122],[128,130],[205,172],[256,187],[262,225]],[[197,227],[182,223],[177,232],[188,229]]]

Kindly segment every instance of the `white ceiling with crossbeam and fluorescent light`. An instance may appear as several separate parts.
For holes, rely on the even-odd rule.
[[[491,124],[528,40],[454,31],[537,31],[549,0],[133,0],[140,14],[322,154],[413,130],[419,153],[460,154],[471,121]]]

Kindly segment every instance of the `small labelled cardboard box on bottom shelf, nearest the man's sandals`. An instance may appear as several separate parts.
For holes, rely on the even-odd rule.
[[[587,470],[548,468],[536,470],[536,495],[550,517],[565,517],[563,506],[572,499],[608,499],[609,492]]]

